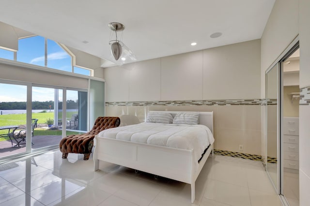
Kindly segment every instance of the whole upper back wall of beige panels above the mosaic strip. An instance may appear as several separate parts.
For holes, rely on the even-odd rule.
[[[260,40],[105,68],[107,102],[260,98]]]

